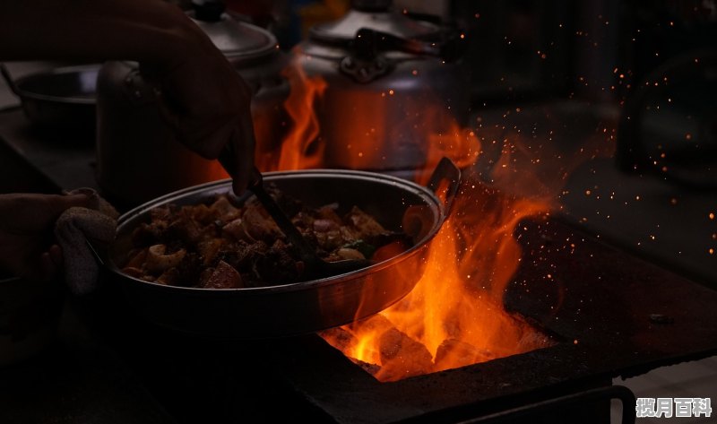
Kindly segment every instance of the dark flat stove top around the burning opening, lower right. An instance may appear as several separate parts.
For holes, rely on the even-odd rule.
[[[338,351],[315,346],[322,341],[301,343],[300,350],[284,341],[269,352],[271,362],[339,422],[393,422],[433,420],[453,409],[458,419],[479,416],[498,404],[559,394],[561,387],[574,390],[717,352],[717,292],[560,221],[519,227],[523,265],[505,304],[557,334],[557,345],[393,383],[379,383]],[[571,243],[575,247],[566,248]]]

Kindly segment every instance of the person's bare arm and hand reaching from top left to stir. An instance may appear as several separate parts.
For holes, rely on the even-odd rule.
[[[134,60],[177,138],[207,159],[231,143],[243,191],[254,167],[251,91],[212,41],[161,0],[0,0],[0,60]]]

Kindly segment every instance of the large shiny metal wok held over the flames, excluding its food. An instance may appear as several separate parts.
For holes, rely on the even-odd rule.
[[[126,299],[146,319],[181,333],[212,338],[269,338],[311,333],[376,314],[413,289],[426,265],[431,240],[445,221],[460,183],[460,171],[442,160],[428,187],[382,174],[353,170],[269,172],[273,183],[310,207],[357,205],[386,229],[401,229],[404,215],[418,215],[422,230],[408,250],[364,269],[314,281],[270,287],[212,290],[165,286],[122,273],[132,230],[149,221],[149,211],[166,203],[194,204],[231,190],[221,180],[164,195],[119,218],[108,268]],[[447,182],[447,184],[442,183]],[[437,187],[447,187],[445,201]],[[241,197],[245,201],[249,195]],[[341,210],[339,212],[342,212]]]

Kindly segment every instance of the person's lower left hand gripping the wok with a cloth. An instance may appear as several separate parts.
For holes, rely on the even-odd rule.
[[[50,281],[62,265],[53,238],[57,218],[86,195],[0,195],[0,268],[18,277]]]

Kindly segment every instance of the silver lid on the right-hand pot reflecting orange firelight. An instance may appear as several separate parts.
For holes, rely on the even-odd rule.
[[[440,28],[433,23],[415,21],[388,8],[354,7],[339,21],[316,25],[311,29],[310,37],[330,43],[345,42],[354,39],[358,30],[362,29],[391,34],[400,39],[428,39],[440,33]]]

